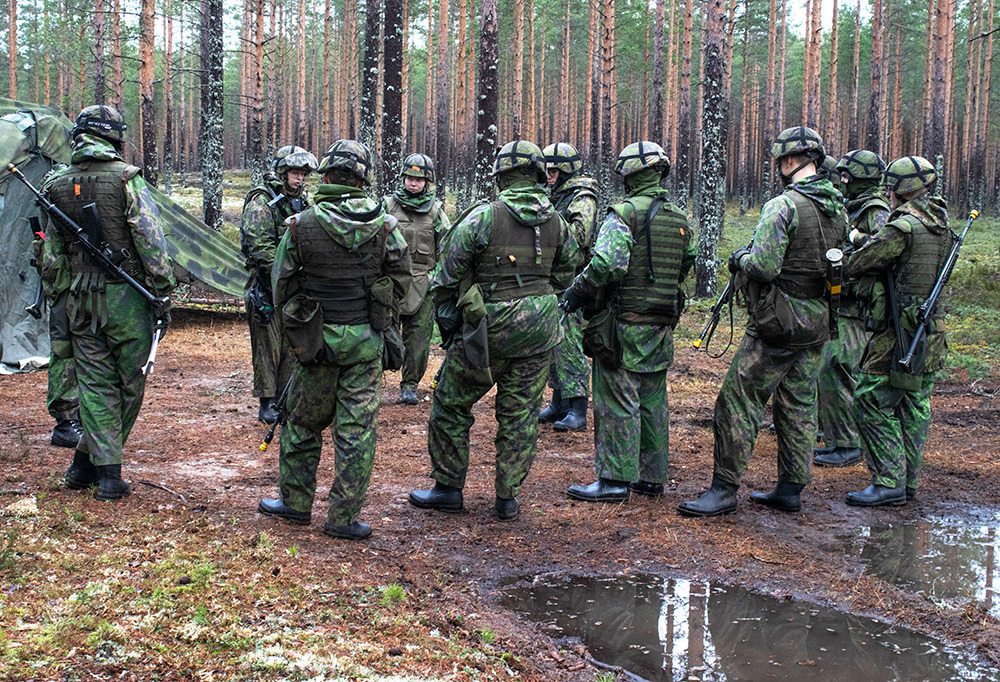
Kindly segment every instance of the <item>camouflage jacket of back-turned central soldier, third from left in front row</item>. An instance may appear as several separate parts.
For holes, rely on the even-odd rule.
[[[544,190],[530,181],[516,182],[500,192],[498,199],[518,220],[528,225],[540,225],[555,212]],[[556,291],[570,284],[581,259],[572,230],[566,221],[560,222],[562,245],[556,252],[550,278]],[[474,272],[479,257],[486,251],[492,227],[490,206],[482,204],[445,235],[438,267],[431,275],[431,296],[435,305],[447,300],[457,301],[459,285],[467,274]],[[492,356],[526,357],[554,348],[562,340],[557,306],[555,294],[488,302],[486,312]]]

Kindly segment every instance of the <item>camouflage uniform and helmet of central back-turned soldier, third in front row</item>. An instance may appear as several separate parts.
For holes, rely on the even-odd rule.
[[[519,142],[533,154],[540,150],[530,143]],[[507,149],[510,144],[505,145]],[[526,153],[526,152],[525,152]],[[503,154],[503,150],[501,151]],[[540,182],[544,177],[542,167]],[[505,176],[516,176],[506,180]],[[569,226],[556,217],[555,209],[545,192],[529,176],[504,173],[498,179],[501,192],[497,202],[475,208],[456,223],[441,247],[438,270],[431,277],[431,295],[438,309],[454,302],[463,279],[471,278],[483,288],[488,320],[489,371],[491,381],[481,373],[467,370],[463,342],[460,338],[448,348],[443,370],[434,390],[428,424],[427,444],[433,478],[453,488],[465,485],[469,466],[469,429],[473,423],[472,406],[492,388],[496,393],[496,495],[500,499],[516,498],[535,457],[538,441],[538,411],[545,388],[546,370],[552,360],[552,349],[560,340],[559,311],[555,291],[561,291],[572,281],[580,254]],[[510,230],[532,228],[539,251],[534,266],[518,264],[516,260],[497,257],[486,260],[490,249],[496,211],[509,212]],[[553,218],[557,223],[553,230]],[[540,245],[540,246],[539,246]],[[494,247],[494,250],[501,247]],[[510,247],[510,250],[524,247]],[[485,279],[497,281],[511,278],[516,268],[538,269],[537,263],[551,258],[547,274],[524,276],[522,295],[510,296],[494,292]],[[528,259],[524,255],[524,260]],[[543,261],[544,262],[544,261]],[[506,282],[504,287],[509,287]],[[506,290],[506,289],[504,289]],[[411,494],[411,501],[412,501]],[[418,505],[419,506],[419,505]]]

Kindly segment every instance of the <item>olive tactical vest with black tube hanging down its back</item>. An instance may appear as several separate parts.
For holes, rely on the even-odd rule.
[[[659,208],[648,221],[654,200]],[[632,247],[628,272],[618,287],[619,317],[632,324],[673,324],[678,279],[691,239],[687,218],[673,204],[654,197],[633,197],[625,203],[633,208],[629,219]]]

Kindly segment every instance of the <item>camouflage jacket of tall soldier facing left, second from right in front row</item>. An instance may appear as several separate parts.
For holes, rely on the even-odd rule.
[[[826,175],[812,175],[795,183],[795,189],[814,199],[819,210],[827,217],[840,217],[847,225],[844,204],[840,192],[830,183]],[[758,282],[772,282],[781,273],[785,252],[795,230],[799,226],[798,211],[795,204],[784,193],[764,204],[760,212],[760,220],[754,230],[753,246],[750,253],[740,259],[740,269],[746,275]],[[828,247],[834,247],[843,242],[846,233],[841,235]],[[806,320],[826,318],[829,314],[825,298],[795,298],[789,296],[793,314],[797,319]],[[756,336],[752,320],[747,324],[747,334]]]

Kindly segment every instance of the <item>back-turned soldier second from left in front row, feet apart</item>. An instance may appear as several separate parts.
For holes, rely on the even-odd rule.
[[[315,206],[289,218],[274,258],[274,302],[300,354],[281,430],[281,497],[261,500],[257,510],[310,523],[323,429],[332,424],[334,479],[323,532],[363,540],[371,535],[371,526],[358,516],[371,478],[382,397],[380,330],[388,327],[387,308],[406,292],[410,256],[395,218],[381,201],[365,196],[375,183],[367,147],[354,140],[334,142],[319,172],[323,184]],[[376,309],[374,292],[383,284],[387,291]],[[310,309],[311,315],[303,312]],[[289,319],[296,314],[316,321],[305,339],[291,338]]]

